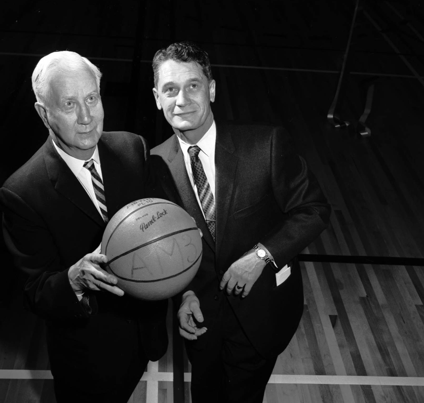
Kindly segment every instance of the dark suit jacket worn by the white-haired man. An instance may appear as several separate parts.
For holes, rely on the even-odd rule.
[[[109,217],[134,200],[163,197],[152,179],[143,138],[104,132],[98,149]],[[5,182],[0,203],[7,246],[16,265],[29,275],[25,304],[47,320],[54,376],[64,371],[84,374],[93,365],[102,376],[110,362],[119,371],[128,360],[126,329],[134,321],[147,357],[157,360],[165,353],[167,301],[149,303],[92,291],[86,293],[90,313],[76,298],[67,268],[98,247],[105,223],[50,137]]]

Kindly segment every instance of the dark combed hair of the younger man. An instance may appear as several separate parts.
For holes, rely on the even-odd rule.
[[[177,63],[194,61],[201,66],[208,83],[212,81],[211,63],[208,54],[194,42],[184,41],[173,43],[155,53],[152,62],[155,88],[158,86],[159,69],[167,60],[174,60]]]

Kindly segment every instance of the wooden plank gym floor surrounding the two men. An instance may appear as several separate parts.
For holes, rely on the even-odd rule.
[[[2,183],[45,141],[30,76],[54,50],[96,63],[105,130],[136,132],[151,147],[171,130],[153,102],[149,61],[179,40],[194,40],[210,55],[216,119],[289,129],[333,213],[330,227],[303,251],[322,261],[301,263],[304,315],[269,380],[268,403],[424,401],[424,12],[418,0],[360,6],[337,108],[352,124],[337,129],[326,116],[354,0],[0,6]],[[371,136],[360,138],[355,126],[370,85]],[[0,403],[54,403],[43,321],[23,310],[24,279],[0,246]],[[350,262],[325,261],[328,255]],[[131,402],[190,401],[190,366],[173,318],[170,307],[168,352],[149,364]]]

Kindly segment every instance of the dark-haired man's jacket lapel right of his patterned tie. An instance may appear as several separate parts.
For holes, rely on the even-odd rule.
[[[233,199],[238,157],[231,133],[225,126],[216,125],[215,145],[215,206],[216,253],[219,255],[224,238],[228,211]]]

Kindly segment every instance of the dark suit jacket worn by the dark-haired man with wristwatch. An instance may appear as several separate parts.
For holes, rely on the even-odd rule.
[[[303,311],[295,257],[327,226],[330,214],[317,180],[294,152],[287,132],[274,126],[217,124],[216,243],[190,185],[176,135],[151,154],[168,197],[195,218],[204,234],[201,266],[187,287],[200,299],[205,318],[201,326],[214,325],[222,275],[256,243],[265,245],[279,267],[292,261],[290,277],[278,287],[267,265],[246,298],[228,298],[253,346],[264,357],[281,353]],[[210,333],[190,343],[203,348]]]

